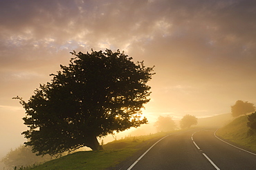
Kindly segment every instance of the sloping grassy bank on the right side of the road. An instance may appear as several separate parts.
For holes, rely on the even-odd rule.
[[[256,153],[256,136],[249,136],[247,116],[240,116],[217,131],[217,136]]]

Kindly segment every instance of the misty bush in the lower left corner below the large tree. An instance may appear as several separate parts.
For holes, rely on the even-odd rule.
[[[25,145],[21,145],[15,150],[11,149],[6,156],[3,157],[1,162],[11,169],[14,167],[19,169],[21,167],[32,166],[33,164],[39,164],[48,160],[51,160],[51,156],[36,156],[35,153],[31,151],[30,146],[25,147]]]

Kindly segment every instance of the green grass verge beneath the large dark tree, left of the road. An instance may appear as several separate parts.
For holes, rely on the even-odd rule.
[[[40,164],[31,170],[63,170],[63,169],[107,169],[115,167],[126,158],[133,156],[136,151],[170,133],[157,133],[147,136],[129,136],[121,140],[114,140],[103,145],[103,151],[77,151],[56,160]]]

